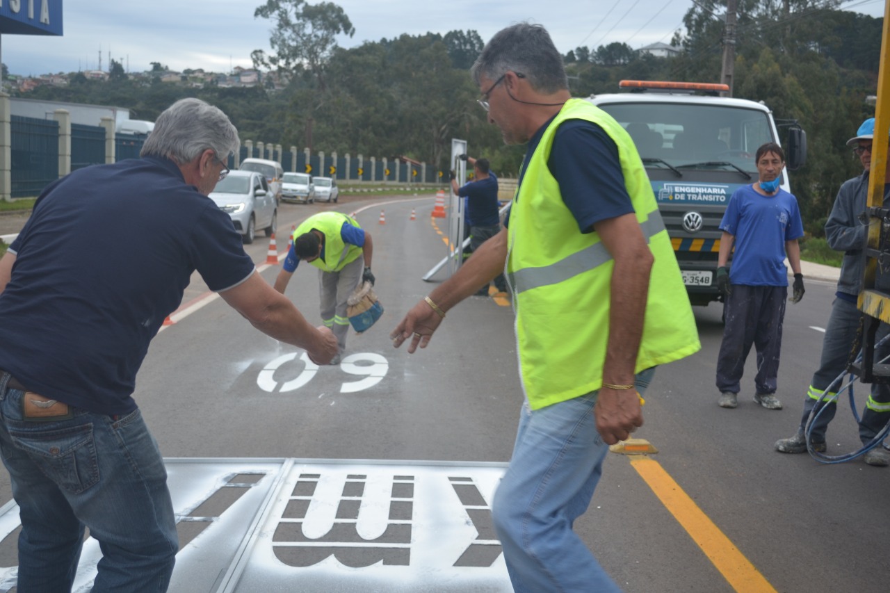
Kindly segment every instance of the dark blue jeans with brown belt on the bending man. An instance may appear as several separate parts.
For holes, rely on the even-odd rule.
[[[102,558],[93,593],[166,591],[179,547],[158,443],[135,410],[24,420],[0,374],[0,453],[19,504],[20,591],[70,591],[84,528]]]

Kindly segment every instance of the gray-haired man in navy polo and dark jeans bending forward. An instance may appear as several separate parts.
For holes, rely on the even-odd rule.
[[[176,521],[133,392],[192,272],[263,333],[317,363],[336,353],[207,198],[238,149],[221,110],[176,102],[142,158],[48,185],[0,259],[0,451],[20,508],[20,591],[71,590],[85,527],[102,551],[95,593],[166,591]]]

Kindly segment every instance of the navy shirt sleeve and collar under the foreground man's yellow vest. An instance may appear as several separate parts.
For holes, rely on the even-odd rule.
[[[529,141],[519,177],[521,186],[531,155],[551,121],[553,118],[538,128]],[[618,146],[593,122],[562,122],[554,134],[547,167],[559,183],[562,201],[575,217],[580,232],[593,232],[594,224],[601,220],[634,212],[621,172]],[[506,226],[509,221],[504,223]]]

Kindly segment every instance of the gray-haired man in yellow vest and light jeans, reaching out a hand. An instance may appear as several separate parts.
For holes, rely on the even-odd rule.
[[[571,98],[546,29],[498,32],[473,78],[505,142],[528,143],[519,188],[506,229],[415,305],[392,343],[429,345],[506,264],[525,402],[491,511],[510,580],[517,592],[619,591],[572,524],[608,445],[642,426],[654,367],[700,349],[692,307],[634,142]]]

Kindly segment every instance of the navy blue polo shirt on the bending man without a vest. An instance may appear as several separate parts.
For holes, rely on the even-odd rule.
[[[86,167],[52,183],[9,250],[0,369],[101,414],[135,410],[136,372],[192,272],[222,291],[255,271],[231,217],[166,158]]]

